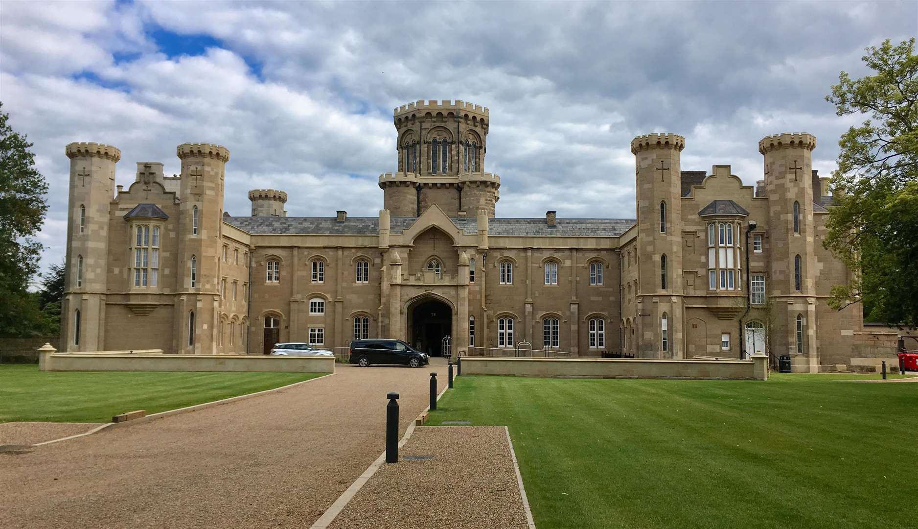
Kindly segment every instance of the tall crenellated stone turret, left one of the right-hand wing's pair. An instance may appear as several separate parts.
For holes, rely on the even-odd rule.
[[[680,157],[685,138],[655,133],[634,138],[638,244],[639,351],[644,358],[682,357],[682,203]],[[666,349],[663,334],[666,330]],[[653,340],[647,340],[649,334]]]

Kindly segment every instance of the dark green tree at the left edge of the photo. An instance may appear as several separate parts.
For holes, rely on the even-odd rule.
[[[38,271],[42,246],[33,236],[48,210],[48,184],[35,169],[32,143],[6,124],[8,118],[0,111],[0,335],[24,336],[41,328],[28,284]]]

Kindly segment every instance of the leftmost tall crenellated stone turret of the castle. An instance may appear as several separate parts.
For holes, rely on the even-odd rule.
[[[62,349],[99,351],[105,348],[108,208],[121,151],[104,143],[74,142],[64,152],[70,158],[70,194]]]

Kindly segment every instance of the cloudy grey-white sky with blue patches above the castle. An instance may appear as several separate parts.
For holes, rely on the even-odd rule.
[[[819,139],[823,97],[864,73],[864,48],[918,33],[916,2],[0,3],[0,100],[50,183],[43,264],[62,259],[70,141],[179,172],[175,146],[226,145],[226,208],[285,190],[290,215],[375,215],[396,168],[392,109],[418,99],[490,107],[486,170],[500,217],[634,215],[635,135],[686,137],[682,168],[762,177],[757,141]]]

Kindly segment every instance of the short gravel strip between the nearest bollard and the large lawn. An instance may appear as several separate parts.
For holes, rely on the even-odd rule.
[[[527,529],[502,426],[422,426],[329,529]],[[405,460],[405,456],[432,459]]]

